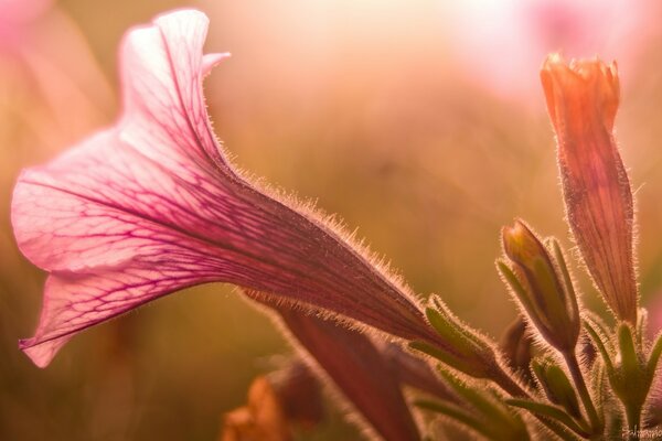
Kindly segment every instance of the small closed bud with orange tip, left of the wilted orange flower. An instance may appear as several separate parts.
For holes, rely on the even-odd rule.
[[[579,336],[579,311],[563,252],[551,241],[554,256],[521,220],[502,230],[508,261],[496,266],[504,281],[542,336],[562,353],[574,351]]]

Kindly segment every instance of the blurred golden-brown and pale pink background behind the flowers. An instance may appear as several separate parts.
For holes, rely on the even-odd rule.
[[[122,33],[182,7],[210,17],[207,51],[233,53],[205,95],[236,163],[338,213],[416,292],[494,338],[515,315],[493,266],[501,226],[523,217],[572,248],[540,65],[558,50],[617,58],[642,301],[662,311],[656,1],[0,0],[0,440],[214,440],[291,352],[226,286],[89,330],[43,370],[17,349],[44,275],[15,248],[12,183],[113,122]],[[356,432],[335,413],[301,437]]]

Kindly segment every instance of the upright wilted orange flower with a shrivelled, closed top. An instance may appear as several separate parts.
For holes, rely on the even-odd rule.
[[[545,61],[541,79],[573,235],[607,304],[620,320],[636,323],[632,192],[613,138],[616,63],[596,58],[568,65],[554,54]]]

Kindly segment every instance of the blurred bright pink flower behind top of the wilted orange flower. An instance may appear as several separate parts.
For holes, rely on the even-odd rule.
[[[537,103],[537,72],[551,52],[618,60],[627,77],[654,7],[649,0],[467,0],[442,8],[466,74],[499,95]]]

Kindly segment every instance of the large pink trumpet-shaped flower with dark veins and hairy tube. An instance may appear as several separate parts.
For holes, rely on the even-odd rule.
[[[124,114],[53,162],[24,171],[12,223],[50,272],[20,346],[39,366],[76,332],[185,287],[229,282],[435,340],[406,290],[321,222],[239,178],[211,130],[202,78],[207,19],[185,10],[124,40]]]

